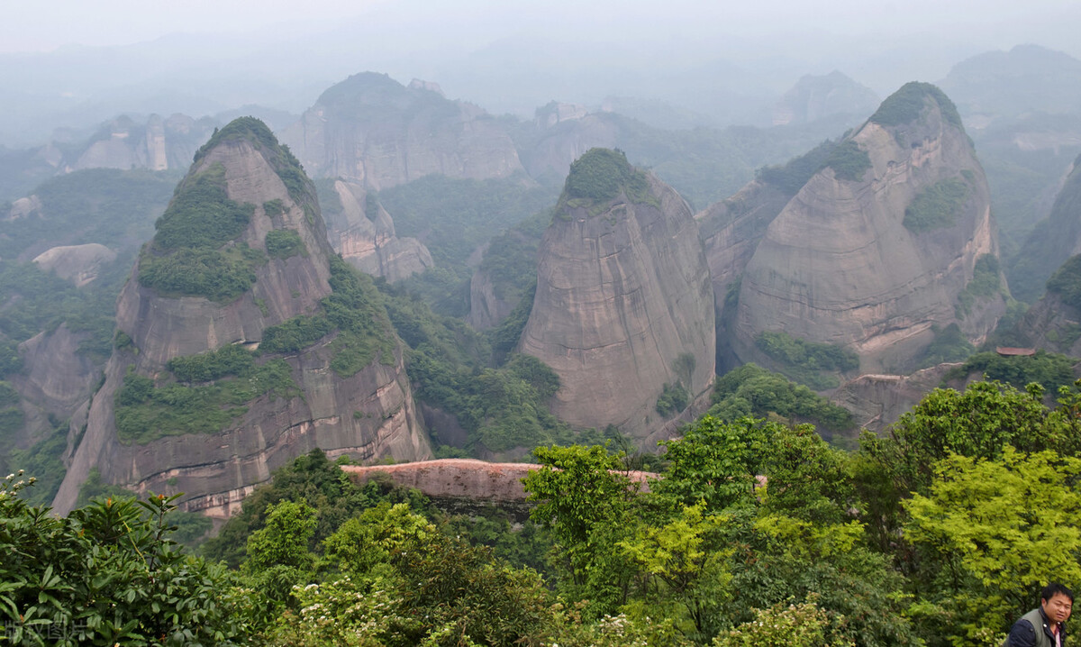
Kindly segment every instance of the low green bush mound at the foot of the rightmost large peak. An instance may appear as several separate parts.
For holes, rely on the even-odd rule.
[[[855,424],[846,409],[803,384],[753,364],[745,364],[718,378],[710,402],[709,415],[724,422],[774,414],[793,423],[814,423],[830,432],[848,431]]]

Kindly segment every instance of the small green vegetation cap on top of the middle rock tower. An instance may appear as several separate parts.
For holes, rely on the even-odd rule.
[[[571,163],[563,195],[589,203],[614,200],[623,193],[635,202],[650,201],[645,173],[630,166],[622,150],[590,148]],[[653,201],[656,198],[652,199]]]

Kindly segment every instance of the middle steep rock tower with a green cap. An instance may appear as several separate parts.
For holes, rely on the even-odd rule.
[[[519,342],[559,374],[552,412],[645,438],[672,415],[656,412],[665,384],[692,401],[710,387],[715,344],[709,269],[686,202],[622,154],[590,150],[540,243]]]

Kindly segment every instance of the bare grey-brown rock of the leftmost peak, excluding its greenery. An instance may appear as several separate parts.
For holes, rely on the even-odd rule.
[[[342,377],[330,368],[336,332],[282,357],[296,393],[256,397],[221,432],[165,436],[144,445],[120,441],[115,399],[129,371],[160,378],[169,374],[165,365],[175,357],[236,343],[254,346],[267,327],[320,312],[320,300],[332,291],[333,250],[313,187],[301,177],[293,179],[293,190],[286,188],[272,162],[282,153],[269,130],[253,119],[238,122],[243,127],[226,127],[208,144],[185,182],[208,169],[224,168],[228,198],[255,206],[235,242],[265,251],[269,232],[290,229],[298,235],[304,252],[268,258],[254,268],[252,288],[228,303],[159,294],[139,282],[136,267],[117,313],[118,328],[132,343],[116,351],[106,367],[105,383],[93,398],[85,434],[55,500],[61,512],[71,509],[92,467],[106,483],[141,493],[186,492],[187,510],[227,516],[271,471],[315,447],[331,457],[348,453],[361,460],[430,455],[400,343],[396,341],[392,357]],[[299,194],[296,182],[303,184]]]

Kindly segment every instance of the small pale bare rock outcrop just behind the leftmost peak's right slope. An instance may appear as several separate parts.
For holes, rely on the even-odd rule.
[[[416,238],[399,238],[390,214],[378,202],[370,204],[363,188],[338,180],[334,192],[342,211],[325,214],[326,234],[334,251],[350,265],[390,282],[433,265],[428,248]]]

